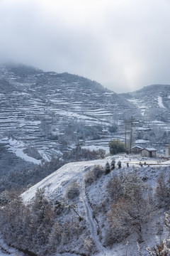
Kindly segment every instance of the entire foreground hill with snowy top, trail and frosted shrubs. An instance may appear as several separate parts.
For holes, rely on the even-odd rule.
[[[26,250],[26,241],[29,240],[28,249],[35,255],[42,255],[45,250],[45,255],[56,256],[102,256],[104,254],[137,256],[139,247],[140,255],[149,255],[146,247],[155,246],[160,242],[160,237],[162,240],[169,238],[169,232],[164,226],[164,212],[169,209],[169,201],[166,205],[168,198],[164,198],[164,192],[161,193],[158,190],[161,175],[164,176],[164,189],[168,186],[166,181],[169,178],[169,161],[156,164],[156,161],[145,159],[151,166],[141,167],[139,162],[143,159],[136,157],[130,160],[127,155],[115,156],[115,169],[107,175],[103,167],[106,166],[107,161],[111,164],[111,157],[62,166],[22,194],[26,206],[19,206],[19,204],[17,206],[17,221],[22,218],[22,211],[27,215],[26,220],[30,218],[28,208],[32,209],[31,215],[36,214],[37,218],[42,218],[41,221],[35,219],[30,220],[30,224],[29,221],[27,223],[29,230],[31,221],[34,222],[38,247],[34,245],[34,241],[30,240],[30,233],[26,230],[22,231],[21,242],[15,235],[15,228],[13,229],[15,242],[10,233],[6,235],[5,241],[10,240],[11,245]],[[121,169],[118,169],[118,161],[122,162]],[[128,168],[127,161],[132,162]],[[121,206],[122,200],[123,206]],[[130,203],[129,209],[127,203]],[[118,215],[114,213],[113,206],[118,210]],[[10,210],[13,205],[8,207],[7,210]],[[20,208],[23,210],[19,210]],[[49,213],[55,225],[49,220]],[[114,218],[111,213],[115,214],[115,228],[112,226]],[[42,214],[45,214],[44,217]],[[132,215],[129,217],[129,214],[134,215],[134,219]],[[134,222],[136,215],[137,221],[142,225],[141,233],[136,229],[138,224]],[[128,225],[129,218],[132,226]],[[124,224],[121,223],[123,220]],[[12,221],[11,224],[10,221]],[[10,221],[8,230],[10,225],[13,225],[13,220]],[[22,220],[20,225],[17,222],[17,228],[21,229],[26,225],[24,221]],[[46,231],[51,227],[51,230],[44,233],[43,227],[46,227]],[[38,238],[39,235],[41,239],[45,239],[42,244]]]

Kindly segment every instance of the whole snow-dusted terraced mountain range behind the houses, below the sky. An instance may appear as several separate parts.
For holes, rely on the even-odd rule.
[[[118,95],[78,75],[4,65],[0,142],[16,156],[40,164],[76,144],[108,151],[111,139],[125,142],[124,121],[133,118],[132,144],[145,139],[148,146],[163,150],[170,137],[169,88],[151,85]],[[126,129],[128,139],[130,126]]]

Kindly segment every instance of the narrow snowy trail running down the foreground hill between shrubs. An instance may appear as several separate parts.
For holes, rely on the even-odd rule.
[[[86,210],[86,218],[89,221],[90,230],[91,230],[91,238],[93,238],[99,252],[104,252],[104,247],[101,245],[101,242],[98,238],[98,225],[96,223],[96,220],[93,217],[92,209],[91,209],[91,206],[89,205],[89,201],[86,196],[86,187],[85,187],[84,178],[82,175],[79,178],[79,184],[81,185],[80,199],[83,201],[84,207]]]

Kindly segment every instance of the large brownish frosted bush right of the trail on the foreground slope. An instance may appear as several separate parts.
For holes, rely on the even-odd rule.
[[[123,184],[120,185],[122,187],[118,191],[120,181]],[[110,187],[111,185],[110,183]],[[120,230],[122,239],[125,235],[136,233],[138,242],[142,242],[142,227],[154,213],[152,204],[145,196],[147,186],[136,174],[119,178],[113,185],[115,187],[111,188],[110,193],[114,196],[115,191],[117,194],[115,202],[111,203],[111,212],[108,213],[108,221],[113,232]]]

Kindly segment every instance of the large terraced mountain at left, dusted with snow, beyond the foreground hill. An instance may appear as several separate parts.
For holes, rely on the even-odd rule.
[[[107,127],[136,111],[128,100],[96,81],[26,65],[1,66],[0,90],[0,139],[6,137],[18,155],[12,139],[23,145],[23,151],[35,146],[45,160],[80,139],[108,137],[108,145]]]

